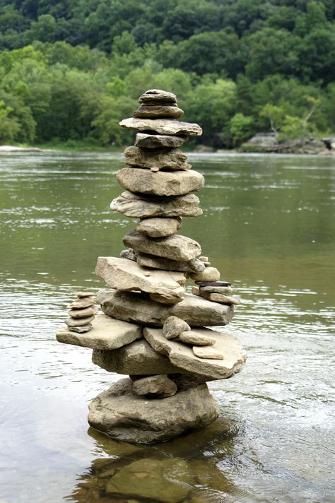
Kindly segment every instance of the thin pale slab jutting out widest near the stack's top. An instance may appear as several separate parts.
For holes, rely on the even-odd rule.
[[[137,129],[139,131],[155,131],[166,135],[201,136],[202,129],[198,124],[180,122],[175,119],[136,119],[129,117],[119,122],[125,129]]]

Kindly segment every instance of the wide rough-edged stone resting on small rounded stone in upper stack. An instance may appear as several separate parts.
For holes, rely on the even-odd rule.
[[[196,217],[202,215],[199,198],[195,194],[175,197],[139,196],[129,191],[113,199],[110,208],[131,218]]]

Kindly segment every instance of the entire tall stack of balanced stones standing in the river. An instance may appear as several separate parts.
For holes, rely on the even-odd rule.
[[[194,192],[204,177],[178,149],[201,128],[180,122],[172,93],[151,89],[139,102],[134,117],[120,122],[139,132],[117,172],[126,190],[110,205],[139,222],[124,237],[121,258],[98,258],[95,272],[110,287],[96,298],[104,314],[86,315],[92,328],[79,329],[73,320],[78,309],[91,309],[83,299],[92,297],[78,294],[57,340],[93,348],[93,363],[129,375],[93,399],[89,424],[113,439],[151,444],[213,422],[218,406],[206,381],[240,372],[245,353],[235,337],[204,328],[228,324],[238,301],[199,243],[177,234],[182,217],[202,214]],[[192,293],[187,278],[196,282]]]

